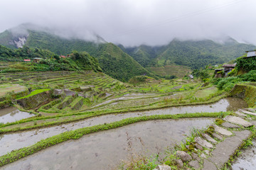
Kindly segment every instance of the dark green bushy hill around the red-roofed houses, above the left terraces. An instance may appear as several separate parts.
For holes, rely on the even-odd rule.
[[[42,58],[40,62],[32,62],[34,57]],[[23,62],[24,59],[31,59],[31,62]],[[1,72],[21,72],[21,71],[60,71],[60,70],[90,70],[95,72],[102,71],[95,57],[90,56],[87,52],[74,51],[70,57],[60,58],[49,50],[33,49],[27,46],[11,50],[10,48],[0,45],[0,61],[18,61],[19,63],[11,64],[8,68],[2,69]]]

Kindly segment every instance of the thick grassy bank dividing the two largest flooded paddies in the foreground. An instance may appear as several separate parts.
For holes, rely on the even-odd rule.
[[[60,133],[59,135],[55,135],[53,137],[48,137],[44,140],[41,140],[37,142],[35,145],[31,145],[30,147],[23,147],[21,149],[16,149],[8,154],[1,156],[0,166],[4,166],[5,164],[15,162],[18,159],[21,159],[30,154],[39,152],[43,149],[46,149],[47,147],[57,145],[61,142],[65,142],[67,140],[78,140],[83,135],[87,135],[92,132],[110,130],[110,129],[119,128],[125,125],[130,125],[132,123],[139,123],[147,120],[164,120],[164,119],[179,119],[179,118],[217,118],[221,114],[223,114],[223,112],[184,113],[184,114],[176,114],[176,115],[148,115],[148,116],[142,116],[137,118],[126,118],[124,120],[120,120],[114,123],[107,123],[104,125],[95,125],[92,127],[80,128],[78,130],[63,132],[63,133]]]

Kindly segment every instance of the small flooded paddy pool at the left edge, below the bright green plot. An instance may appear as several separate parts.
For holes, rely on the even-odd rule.
[[[30,118],[32,116],[34,115],[23,111],[18,111],[18,109],[15,107],[0,109],[0,123],[11,123],[15,122],[16,120]]]

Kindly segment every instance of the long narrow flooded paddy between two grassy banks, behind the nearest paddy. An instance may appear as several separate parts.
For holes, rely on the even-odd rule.
[[[196,112],[219,112],[237,110],[238,108],[246,108],[247,105],[239,98],[225,98],[217,103],[210,105],[183,106],[164,108],[152,111],[120,113],[112,115],[102,115],[95,118],[88,118],[76,123],[68,123],[65,125],[55,126],[51,128],[42,128],[40,130],[30,130],[25,132],[16,132],[11,134],[0,135],[0,156],[11,152],[11,150],[21,147],[28,147],[47,137],[58,135],[68,130],[76,130],[79,128],[100,125],[103,123],[112,123],[124,118],[134,118],[142,115],[161,115],[161,114],[178,114],[178,113],[196,113]]]

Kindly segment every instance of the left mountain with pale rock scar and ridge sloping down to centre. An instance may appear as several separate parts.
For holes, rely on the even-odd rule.
[[[128,81],[142,74],[154,76],[117,45],[106,42],[99,35],[93,36],[94,40],[63,38],[53,34],[53,31],[48,28],[22,24],[1,33],[0,45],[12,49],[26,45],[35,49],[50,50],[58,55],[68,55],[74,50],[85,51],[99,60],[103,72],[121,81]]]

